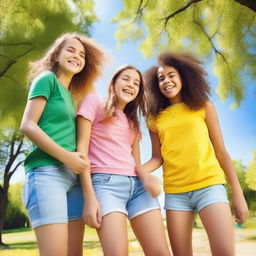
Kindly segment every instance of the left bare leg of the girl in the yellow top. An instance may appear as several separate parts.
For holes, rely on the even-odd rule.
[[[191,211],[166,211],[167,228],[174,256],[192,256],[192,228],[194,213]]]

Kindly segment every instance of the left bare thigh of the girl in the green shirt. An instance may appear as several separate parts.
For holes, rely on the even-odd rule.
[[[35,228],[40,256],[65,256],[68,247],[68,224],[50,224]]]

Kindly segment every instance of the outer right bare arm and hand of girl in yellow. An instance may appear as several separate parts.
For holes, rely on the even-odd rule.
[[[217,113],[211,102],[206,103],[205,121],[208,127],[209,136],[215,151],[216,158],[218,159],[220,166],[223,169],[231,187],[236,221],[238,223],[243,223],[247,218],[248,207],[244,199],[243,191],[236,175],[236,171],[232,164],[232,160],[225,148]]]

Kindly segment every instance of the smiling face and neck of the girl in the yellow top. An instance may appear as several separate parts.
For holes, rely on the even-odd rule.
[[[171,104],[182,102],[182,82],[179,72],[174,67],[159,67],[157,72],[160,92],[169,99]]]

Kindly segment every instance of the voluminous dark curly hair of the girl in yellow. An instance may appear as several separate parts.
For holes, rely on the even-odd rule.
[[[210,86],[202,62],[192,52],[163,52],[158,56],[159,66],[174,67],[181,78],[183,102],[192,110],[202,108],[209,99]],[[147,97],[147,114],[157,116],[170,106],[170,101],[161,94],[158,85],[158,68],[153,66],[144,73]]]

